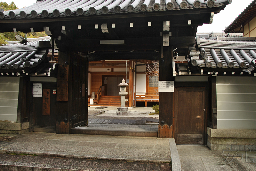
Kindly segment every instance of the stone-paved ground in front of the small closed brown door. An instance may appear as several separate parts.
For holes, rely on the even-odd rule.
[[[256,151],[211,151],[207,146],[177,145],[182,171],[256,171]]]

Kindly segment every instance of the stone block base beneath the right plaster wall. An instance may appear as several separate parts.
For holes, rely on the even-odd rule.
[[[208,127],[207,134],[211,150],[256,151],[256,130]]]

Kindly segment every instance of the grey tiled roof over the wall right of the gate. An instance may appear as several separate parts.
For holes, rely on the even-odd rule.
[[[190,51],[190,62],[193,66],[203,68],[248,68],[256,59],[256,41],[242,40],[200,38],[200,41],[196,41],[196,50]]]

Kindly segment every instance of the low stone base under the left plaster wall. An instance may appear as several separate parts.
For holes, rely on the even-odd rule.
[[[0,134],[24,134],[28,132],[29,122],[11,123],[0,122]]]

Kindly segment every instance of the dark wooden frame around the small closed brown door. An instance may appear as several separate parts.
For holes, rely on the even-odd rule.
[[[174,98],[173,98],[173,128],[174,128],[174,135],[173,138],[177,142],[177,125],[176,125],[176,119],[177,119],[177,107],[175,105],[176,101],[176,95],[175,94],[175,88],[204,88],[204,145],[207,145],[207,127],[208,127],[208,115],[209,115],[209,83],[208,82],[175,82],[174,83]]]

